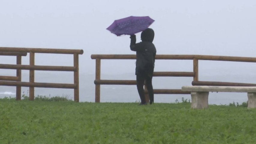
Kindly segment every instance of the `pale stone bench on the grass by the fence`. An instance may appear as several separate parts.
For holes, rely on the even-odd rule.
[[[191,91],[191,108],[208,108],[208,95],[211,92],[247,92],[248,109],[256,108],[256,87],[241,86],[182,86],[182,91]]]

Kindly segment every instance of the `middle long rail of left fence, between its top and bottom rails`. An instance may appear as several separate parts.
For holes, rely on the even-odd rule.
[[[76,67],[68,66],[41,66],[41,65],[15,65],[15,64],[0,64],[0,68],[18,69],[18,70],[55,70],[55,71],[76,71]]]

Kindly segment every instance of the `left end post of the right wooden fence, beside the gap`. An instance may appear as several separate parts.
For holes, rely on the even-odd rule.
[[[96,58],[96,80],[101,79],[101,59]],[[101,98],[101,85],[100,84],[95,84],[95,102],[99,103]]]

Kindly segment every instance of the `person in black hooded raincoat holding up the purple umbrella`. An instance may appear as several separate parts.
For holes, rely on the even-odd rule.
[[[136,51],[136,81],[137,89],[140,95],[140,105],[146,105],[146,99],[144,94],[144,82],[149,92],[150,104],[154,103],[154,91],[152,86],[152,77],[155,67],[155,45],[152,43],[155,33],[153,29],[146,29],[141,33],[141,41],[136,44],[136,35],[131,35],[130,48],[132,51]]]

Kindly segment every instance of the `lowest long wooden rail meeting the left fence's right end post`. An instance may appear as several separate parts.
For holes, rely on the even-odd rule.
[[[77,87],[76,84],[67,84],[67,83],[9,82],[9,81],[0,81],[0,85],[38,87],[38,88],[76,88]]]

